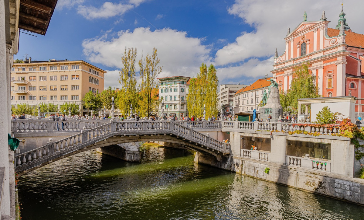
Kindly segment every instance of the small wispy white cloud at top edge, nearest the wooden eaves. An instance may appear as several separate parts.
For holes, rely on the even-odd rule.
[[[134,5],[132,4],[114,4],[107,1],[99,8],[92,5],[79,5],[77,13],[84,16],[86,19],[92,20],[95,18],[110,18],[116,15],[123,15],[126,11],[132,8],[134,8]]]

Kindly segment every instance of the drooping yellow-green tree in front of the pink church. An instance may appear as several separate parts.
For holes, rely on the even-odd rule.
[[[316,76],[312,75],[308,67],[308,62],[304,62],[301,66],[296,67],[293,72],[290,88],[287,92],[281,91],[280,100],[284,111],[293,110],[297,112],[297,99],[320,97],[318,95]],[[301,114],[301,112],[298,112],[298,114]]]

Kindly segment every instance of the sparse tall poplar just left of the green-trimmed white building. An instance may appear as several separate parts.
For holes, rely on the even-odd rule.
[[[140,112],[150,117],[151,113],[155,109],[155,106],[159,104],[158,99],[154,99],[153,90],[158,88],[157,76],[162,72],[162,66],[158,66],[159,58],[157,57],[157,49],[153,48],[153,54],[147,54],[145,58],[142,58],[138,62],[140,68],[141,79],[141,101],[139,102]]]

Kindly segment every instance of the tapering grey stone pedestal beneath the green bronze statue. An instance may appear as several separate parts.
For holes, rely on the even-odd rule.
[[[259,108],[259,111],[263,112],[259,114],[259,118],[263,119],[263,121],[265,121],[269,115],[272,116],[270,122],[277,122],[279,116],[283,117],[283,108],[279,98],[278,88],[272,86],[267,104]]]

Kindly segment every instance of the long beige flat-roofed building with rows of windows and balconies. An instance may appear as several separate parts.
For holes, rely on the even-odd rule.
[[[106,71],[85,61],[32,61],[14,63],[11,68],[11,104],[27,103],[34,107],[39,103],[62,105],[76,102],[82,115],[82,99],[88,91],[104,90]]]

